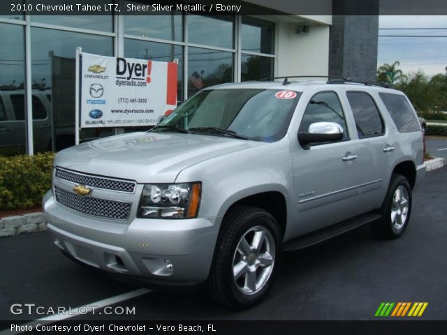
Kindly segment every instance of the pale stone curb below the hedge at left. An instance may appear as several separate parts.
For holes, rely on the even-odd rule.
[[[41,212],[0,218],[0,238],[42,230],[47,230],[47,223]]]

